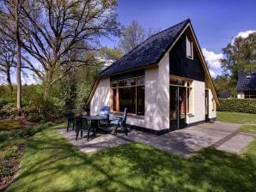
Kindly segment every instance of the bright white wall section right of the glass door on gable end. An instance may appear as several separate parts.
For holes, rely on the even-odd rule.
[[[203,81],[192,82],[192,115],[188,115],[186,123],[197,123],[205,120],[205,83]]]

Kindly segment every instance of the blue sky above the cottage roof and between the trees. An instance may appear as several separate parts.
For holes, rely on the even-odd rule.
[[[256,30],[256,0],[119,0],[117,11],[118,21],[125,26],[137,20],[146,29],[158,31],[190,18],[199,45],[206,49],[204,56],[213,60],[222,57],[222,48],[238,33]],[[101,43],[114,47],[118,39]],[[215,64],[211,70],[220,74],[221,69]]]

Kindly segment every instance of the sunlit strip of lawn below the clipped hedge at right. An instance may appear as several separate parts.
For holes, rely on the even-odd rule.
[[[250,113],[217,111],[216,118],[227,123],[256,124],[256,114]]]

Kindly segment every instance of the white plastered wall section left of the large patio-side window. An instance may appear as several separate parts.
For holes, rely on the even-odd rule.
[[[90,114],[98,115],[100,114],[101,106],[109,106],[110,102],[110,79],[105,78],[102,79],[96,90],[94,92],[94,96],[90,102]]]

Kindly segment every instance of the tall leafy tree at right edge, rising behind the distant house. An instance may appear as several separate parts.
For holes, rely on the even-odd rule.
[[[230,77],[229,86],[235,89],[240,73],[251,72],[256,69],[256,33],[247,38],[235,38],[222,49],[226,58],[222,59],[222,69]]]

